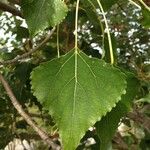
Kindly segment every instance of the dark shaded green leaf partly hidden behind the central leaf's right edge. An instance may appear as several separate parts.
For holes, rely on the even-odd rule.
[[[127,114],[131,108],[131,103],[139,89],[138,80],[127,73],[127,90],[121,101],[112,109],[101,121],[96,123],[96,131],[100,138],[100,150],[108,150],[111,147],[111,140],[118,127],[120,119]]]

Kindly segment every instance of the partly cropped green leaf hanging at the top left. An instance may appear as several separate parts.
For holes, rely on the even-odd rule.
[[[59,24],[67,13],[62,0],[23,0],[21,6],[32,36]]]

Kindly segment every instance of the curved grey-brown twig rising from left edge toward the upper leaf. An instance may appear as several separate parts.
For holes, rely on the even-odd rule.
[[[51,36],[54,33],[54,31],[55,31],[55,27],[50,31],[50,33],[47,35],[47,37],[38,46],[36,46],[35,48],[33,48],[31,51],[29,51],[27,53],[24,53],[23,55],[17,56],[14,59],[2,61],[2,62],[0,62],[0,65],[13,64],[13,63],[18,62],[21,59],[27,58],[32,53],[34,53],[35,51],[39,50],[43,45],[45,45],[49,41],[49,39],[51,38]]]

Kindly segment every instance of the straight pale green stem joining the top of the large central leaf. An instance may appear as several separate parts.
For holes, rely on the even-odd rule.
[[[78,53],[78,12],[79,12],[79,2],[80,0],[77,0],[76,4],[76,16],[75,16],[75,53]]]

